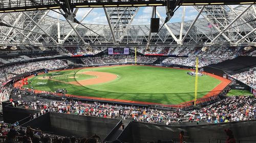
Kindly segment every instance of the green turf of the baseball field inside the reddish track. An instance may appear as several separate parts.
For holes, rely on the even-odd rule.
[[[195,77],[187,75],[187,70],[131,65],[64,70],[51,72],[48,75],[54,74],[54,79],[66,82],[95,78],[94,76],[80,74],[80,72],[84,71],[108,72],[119,77],[106,83],[78,86],[49,79],[40,79],[46,75],[42,74],[32,77],[30,79],[32,81],[31,85],[26,85],[25,87],[33,87],[33,89],[42,91],[55,91],[56,89],[66,88],[68,94],[71,95],[161,104],[179,104],[194,99]],[[198,98],[206,95],[219,83],[221,81],[216,78],[207,75],[199,76]]]

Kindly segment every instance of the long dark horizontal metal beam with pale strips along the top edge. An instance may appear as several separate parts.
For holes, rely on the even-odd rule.
[[[22,3],[23,2],[23,3]],[[13,1],[10,3],[10,0],[2,1],[2,7],[0,8],[0,13],[6,12],[21,12],[21,11],[36,11],[40,9],[59,9],[65,7],[64,3],[59,3],[58,1],[36,1],[38,5],[34,3],[24,3],[24,1]],[[74,8],[92,8],[92,7],[151,7],[151,6],[167,6],[166,0],[157,0],[157,1],[69,1],[66,0],[68,4],[68,9]],[[254,0],[184,0],[177,1],[177,5],[183,6],[193,6],[193,5],[240,5],[244,4],[255,4]],[[69,8],[70,7],[70,8]]]

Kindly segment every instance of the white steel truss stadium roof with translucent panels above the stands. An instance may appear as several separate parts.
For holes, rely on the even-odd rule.
[[[191,6],[192,7],[192,6]],[[238,46],[256,42],[256,7],[239,5],[193,6],[198,15],[181,22],[163,24],[161,30],[150,32],[150,25],[133,24],[138,7],[103,8],[108,23],[77,24],[59,17],[49,16],[49,11],[27,11],[0,14],[0,44],[16,46],[146,46],[148,44],[173,46]],[[88,8],[81,21],[90,15]],[[183,7],[180,7],[182,12]],[[78,10],[78,9],[76,9]],[[76,11],[75,10],[75,11]],[[61,12],[61,10],[60,10]],[[154,15],[153,14],[153,15]],[[195,22],[194,22],[195,21]]]

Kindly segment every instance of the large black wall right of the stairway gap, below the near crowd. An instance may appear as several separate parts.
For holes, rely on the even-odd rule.
[[[161,140],[178,140],[180,131],[189,136],[190,141],[208,142],[227,138],[224,129],[231,129],[234,137],[238,140],[254,140],[256,138],[256,120],[230,122],[221,124],[193,125],[193,126],[167,126],[132,121],[119,135],[122,142],[148,142]],[[201,138],[201,139],[200,139]],[[204,138],[204,139],[203,139]],[[239,141],[238,141],[239,142]]]

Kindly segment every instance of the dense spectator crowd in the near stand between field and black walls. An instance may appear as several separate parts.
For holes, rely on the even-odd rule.
[[[82,103],[79,101],[15,101],[15,107],[40,110],[45,112],[72,113],[81,116],[102,118],[121,118],[140,122],[166,124],[181,122],[236,122],[252,120],[256,117],[256,97],[232,96],[206,106],[200,110],[175,111],[158,110],[154,108],[122,106],[101,103]],[[35,117],[37,117],[36,115]]]

